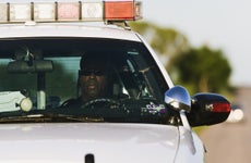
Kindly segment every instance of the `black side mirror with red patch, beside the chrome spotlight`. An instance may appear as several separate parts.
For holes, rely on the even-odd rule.
[[[227,120],[230,102],[217,93],[196,93],[192,97],[191,111],[187,113],[192,127],[214,125]]]

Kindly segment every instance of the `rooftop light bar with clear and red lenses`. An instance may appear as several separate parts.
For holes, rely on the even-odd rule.
[[[133,0],[0,3],[0,23],[108,22],[140,18],[141,2]]]

